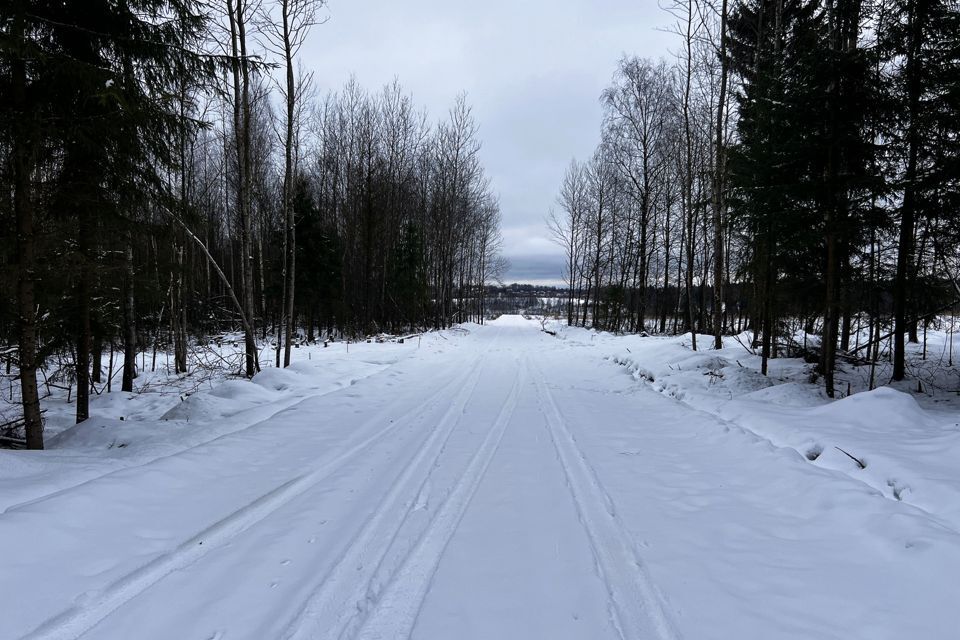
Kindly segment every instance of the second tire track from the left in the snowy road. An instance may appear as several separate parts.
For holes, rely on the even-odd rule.
[[[404,468],[360,533],[288,623],[282,636],[285,640],[340,638],[356,614],[362,614],[376,600],[375,582],[384,559],[407,518],[417,509],[433,470],[479,384],[481,367],[473,369],[469,382],[457,394],[420,452]]]

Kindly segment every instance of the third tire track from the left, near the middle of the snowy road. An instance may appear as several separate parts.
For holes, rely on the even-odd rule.
[[[456,533],[513,418],[520,399],[520,391],[527,381],[525,361],[519,364],[519,369],[507,401],[483,444],[470,460],[467,470],[440,507],[417,546],[387,585],[374,609],[361,623],[359,632],[348,637],[356,640],[410,637],[437,566],[440,564],[440,558]]]

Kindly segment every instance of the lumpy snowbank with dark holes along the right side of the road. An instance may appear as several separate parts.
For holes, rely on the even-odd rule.
[[[689,334],[614,336],[551,328],[567,344],[596,349],[668,397],[960,530],[960,408],[947,394],[880,387],[830,400],[811,382],[812,365],[802,360],[770,360],[769,375],[762,375],[759,357],[741,344],[747,342],[743,336],[726,338],[721,350],[712,349],[712,336],[698,336],[701,350],[693,352]],[[858,372],[846,373],[858,379]]]

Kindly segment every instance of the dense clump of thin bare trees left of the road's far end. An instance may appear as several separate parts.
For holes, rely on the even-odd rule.
[[[358,331],[482,321],[483,285],[505,263],[465,100],[430,126],[397,85],[371,96],[351,82],[317,114],[305,277],[333,278],[306,285],[311,317]]]

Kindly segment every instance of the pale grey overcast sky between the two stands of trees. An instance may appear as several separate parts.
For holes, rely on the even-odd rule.
[[[434,120],[466,92],[503,212],[507,282],[558,281],[543,222],[570,159],[599,138],[624,54],[670,55],[657,0],[328,0],[302,53],[321,91],[397,78]]]

